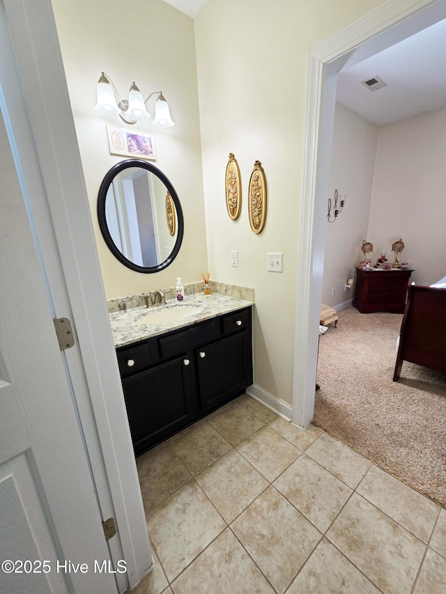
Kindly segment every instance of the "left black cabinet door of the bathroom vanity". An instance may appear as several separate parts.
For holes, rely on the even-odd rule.
[[[192,361],[181,357],[123,380],[135,455],[172,435],[196,416]]]

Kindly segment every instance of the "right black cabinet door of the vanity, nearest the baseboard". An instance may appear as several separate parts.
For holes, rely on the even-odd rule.
[[[208,412],[252,384],[251,333],[247,330],[195,351],[202,412]]]

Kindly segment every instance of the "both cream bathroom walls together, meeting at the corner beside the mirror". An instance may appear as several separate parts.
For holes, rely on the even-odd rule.
[[[380,2],[210,0],[194,21],[162,0],[134,0],[125,8],[117,0],[53,3],[107,297],[172,286],[176,276],[199,281],[205,269],[213,279],[254,287],[254,381],[291,405],[309,52]],[[183,248],[155,275],[120,265],[98,232],[100,180],[120,160],[109,155],[105,136],[105,124],[120,120],[93,111],[102,70],[123,95],[132,80],[145,94],[162,90],[176,121],[167,130],[137,125],[155,134],[156,165],[176,188],[185,214]],[[230,152],[243,182],[236,222],[224,200]],[[261,235],[252,233],[247,219],[256,159],[268,182]],[[231,250],[239,251],[238,268],[230,265]],[[268,251],[284,253],[282,274],[267,272]]]

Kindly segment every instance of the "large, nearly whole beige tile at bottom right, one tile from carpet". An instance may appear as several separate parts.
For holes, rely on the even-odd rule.
[[[381,591],[410,592],[426,547],[369,501],[353,494],[326,536]]]

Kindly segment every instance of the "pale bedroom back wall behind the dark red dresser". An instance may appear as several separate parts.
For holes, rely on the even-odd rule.
[[[394,261],[392,242],[401,237],[399,261],[422,285],[446,274],[445,155],[446,109],[379,128],[368,239],[374,256]]]

